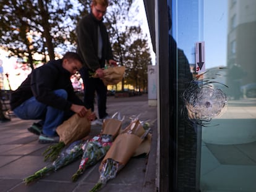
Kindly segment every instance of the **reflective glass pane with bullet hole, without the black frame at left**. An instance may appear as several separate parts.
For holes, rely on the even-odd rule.
[[[181,72],[179,51],[186,55],[189,64],[195,64],[195,43],[203,41],[207,71],[201,83],[214,81],[209,86],[221,90],[228,102],[219,115],[213,114],[209,121],[203,119],[203,126],[194,127],[194,132],[192,124],[178,115],[176,188],[181,191],[189,191],[192,182],[199,182],[201,191],[256,191],[256,12],[245,17],[246,9],[229,6],[234,4],[255,7],[256,1],[176,0],[172,4],[171,34],[177,43],[177,98],[182,96],[182,74],[186,74]],[[219,107],[210,91],[203,92],[203,99],[208,101],[205,106]],[[218,99],[222,98],[215,98]],[[180,104],[184,103],[177,99],[177,114],[181,112]],[[194,104],[198,113],[192,115],[209,115],[199,102]]]

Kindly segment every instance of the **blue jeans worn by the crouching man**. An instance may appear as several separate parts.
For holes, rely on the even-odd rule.
[[[67,99],[65,90],[55,90],[54,93],[61,98]],[[56,128],[74,114],[72,111],[66,112],[46,106],[46,104],[38,102],[35,97],[27,99],[19,107],[16,107],[13,112],[23,120],[41,120],[43,122],[43,134],[48,136],[55,136]]]

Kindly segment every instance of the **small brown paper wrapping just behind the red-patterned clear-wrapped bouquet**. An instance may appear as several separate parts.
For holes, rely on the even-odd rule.
[[[113,140],[119,134],[122,121],[117,119],[105,119],[103,121],[101,134],[113,135]]]

